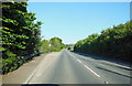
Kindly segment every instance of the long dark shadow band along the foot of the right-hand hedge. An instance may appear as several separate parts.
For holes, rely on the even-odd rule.
[[[73,52],[73,51],[70,51],[70,52]],[[98,60],[98,61],[107,61],[107,62],[111,62],[111,63],[116,63],[116,64],[121,64],[121,65],[124,65],[124,64],[125,64],[125,66],[128,66],[128,67],[130,67],[130,68],[101,62],[101,64],[105,64],[105,65],[116,66],[116,67],[119,67],[119,68],[122,68],[122,69],[132,71],[132,64],[131,64],[131,63],[121,62],[121,61],[116,61],[116,60],[111,60],[111,58],[107,58],[107,57],[94,56],[94,55],[89,55],[89,54],[82,54],[82,53],[78,53],[78,52],[73,52],[73,53],[78,54],[78,55],[81,55],[81,56],[84,56],[84,57],[90,57],[90,58],[94,58],[94,60]]]

